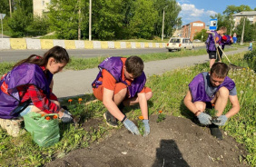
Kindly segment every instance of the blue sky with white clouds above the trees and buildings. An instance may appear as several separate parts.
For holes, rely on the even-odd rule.
[[[182,6],[179,16],[182,16],[182,25],[194,21],[202,21],[210,25],[210,15],[222,14],[228,5],[249,5],[253,10],[256,7],[256,0],[177,0]]]

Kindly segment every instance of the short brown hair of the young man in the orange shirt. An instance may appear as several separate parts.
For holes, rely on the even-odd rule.
[[[128,57],[125,61],[125,66],[127,72],[133,74],[133,77],[138,77],[143,74],[143,60],[136,55]]]

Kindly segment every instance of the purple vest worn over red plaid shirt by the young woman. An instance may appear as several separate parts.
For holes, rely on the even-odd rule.
[[[53,79],[53,74],[47,72],[48,78],[45,77],[44,71],[36,64],[21,64],[5,75],[0,81],[0,87],[5,83],[7,93],[0,89],[0,118],[12,119],[18,117],[19,113],[11,115],[10,113],[20,104],[21,99],[16,89],[17,86],[25,84],[34,84],[37,88],[43,90],[47,97],[50,96],[49,85]]]

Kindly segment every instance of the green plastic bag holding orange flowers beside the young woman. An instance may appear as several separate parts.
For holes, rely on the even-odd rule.
[[[40,113],[30,112],[24,115],[25,129],[31,133],[34,142],[39,146],[51,146],[60,139],[58,116],[55,113],[42,116]],[[50,118],[50,120],[46,120]]]

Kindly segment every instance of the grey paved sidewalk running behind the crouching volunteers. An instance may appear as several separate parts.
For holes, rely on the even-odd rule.
[[[238,54],[244,51],[247,51],[247,47],[226,52],[226,54]],[[222,58],[225,59],[225,56],[222,55]],[[170,58],[167,60],[145,63],[144,72],[147,76],[151,76],[153,74],[162,74],[167,71],[172,71],[176,68],[182,68],[194,64],[203,64],[207,61],[209,61],[208,54]],[[62,73],[55,74],[53,92],[58,98],[83,95],[84,93],[93,93],[91,83],[94,82],[98,73],[99,69],[93,68],[81,71],[67,70]]]

